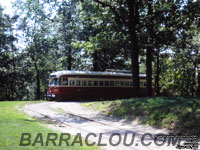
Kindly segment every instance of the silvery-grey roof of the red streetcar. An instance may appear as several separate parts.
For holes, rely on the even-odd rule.
[[[93,75],[93,76],[126,76],[131,77],[130,73],[122,73],[122,72],[99,72],[99,71],[71,71],[71,70],[63,70],[56,71],[50,74],[50,77],[57,77],[63,75]],[[146,77],[145,74],[140,74],[140,77]]]

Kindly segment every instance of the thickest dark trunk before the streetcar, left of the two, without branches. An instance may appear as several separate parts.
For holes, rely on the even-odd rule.
[[[138,37],[136,34],[136,25],[139,22],[138,15],[138,3],[133,0],[128,0],[128,9],[129,9],[129,21],[128,28],[131,38],[131,68],[133,76],[133,96],[140,96],[140,87],[139,87],[139,47],[138,47]]]

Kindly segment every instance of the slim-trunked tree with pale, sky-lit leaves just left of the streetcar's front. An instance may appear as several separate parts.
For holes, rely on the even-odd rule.
[[[36,88],[31,91],[35,93],[35,99],[40,99],[41,92],[44,92],[46,88],[44,86],[47,85],[48,74],[60,67],[56,65],[59,59],[54,59],[59,53],[57,40],[55,40],[56,33],[53,29],[55,24],[47,17],[45,4],[42,5],[39,0],[27,0],[25,3],[17,1],[15,5],[21,11],[19,30],[22,30],[25,35],[23,40],[27,43],[26,59],[31,64],[29,71],[33,74],[32,81],[29,82],[33,82],[32,85]]]

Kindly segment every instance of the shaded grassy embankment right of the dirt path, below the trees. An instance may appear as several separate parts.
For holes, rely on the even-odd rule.
[[[199,98],[133,98],[116,101],[84,103],[93,109],[178,133],[200,135]]]

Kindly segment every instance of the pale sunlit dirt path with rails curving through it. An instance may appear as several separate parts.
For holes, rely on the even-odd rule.
[[[62,133],[70,133],[76,135],[81,133],[82,137],[86,137],[89,133],[95,133],[97,136],[91,135],[89,140],[98,143],[100,135],[102,135],[101,143],[107,144],[107,146],[101,146],[106,150],[175,150],[175,146],[168,146],[167,142],[163,146],[157,146],[150,136],[158,133],[167,134],[168,131],[164,129],[154,129],[147,125],[140,125],[136,122],[127,122],[124,120],[113,119],[101,115],[100,112],[91,110],[84,106],[81,106],[79,102],[43,102],[36,104],[28,104],[23,107],[24,111],[32,117],[44,120],[46,116],[53,118],[56,124],[47,124],[50,128],[58,130]],[[43,115],[41,115],[43,114]],[[74,115],[72,115],[74,114]],[[46,115],[46,116],[44,116]],[[82,117],[78,117],[78,116]],[[91,120],[85,119],[90,118]],[[117,134],[111,138],[111,135]],[[119,134],[122,138],[118,146],[112,146],[109,142],[112,141],[116,144],[119,141]],[[126,143],[130,143],[132,135],[135,133],[134,143],[131,146],[124,146],[123,140],[125,134],[127,134]],[[150,144],[150,146],[143,146],[142,137],[144,137],[144,143]],[[162,141],[157,140],[158,144]]]

